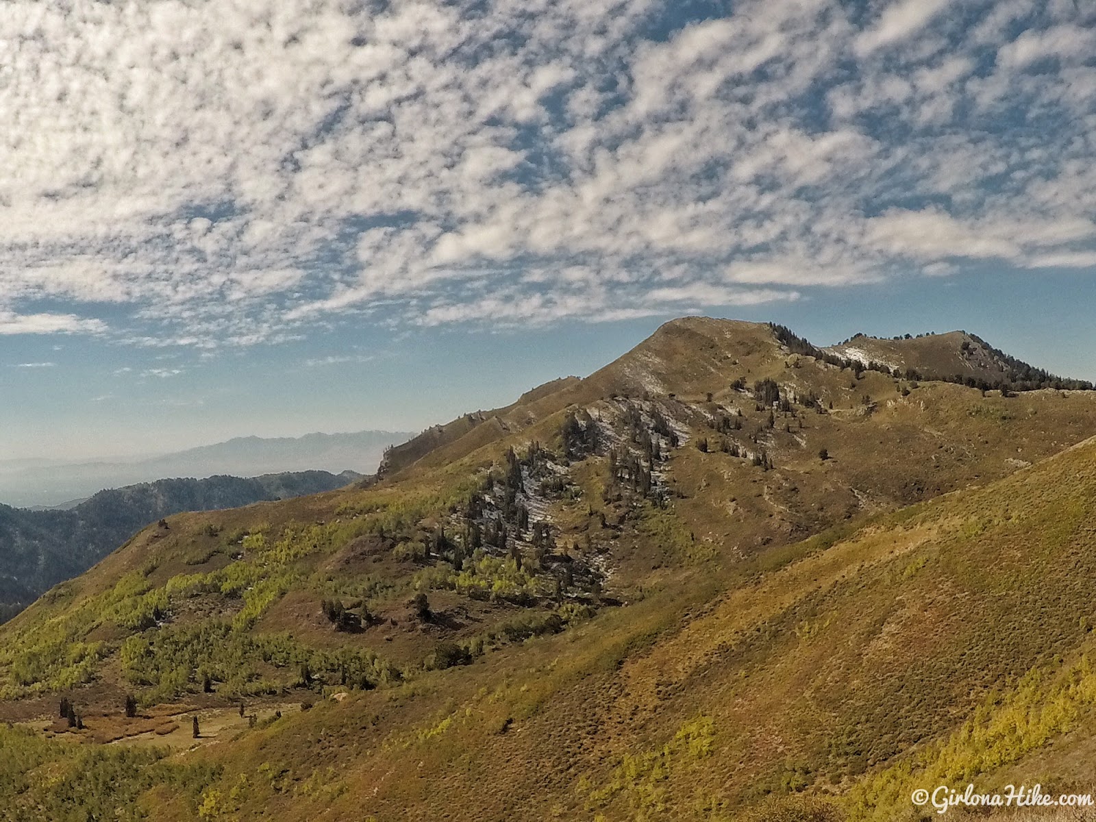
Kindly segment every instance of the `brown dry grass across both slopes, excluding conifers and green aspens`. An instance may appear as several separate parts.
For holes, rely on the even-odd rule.
[[[738,378],[812,392],[826,413],[797,407],[768,427],[768,410],[731,387]],[[606,598],[626,603],[563,633],[424,671],[419,663],[437,640],[470,640],[523,609],[431,591],[445,618],[421,624],[408,598],[422,566],[366,550],[349,532],[279,566],[286,593],[247,637],[288,632],[317,653],[374,650],[408,675],[341,704],[319,686],[297,689],[316,707],[254,729],[216,695],[190,694],[185,709],[208,711],[217,739],[232,738],[196,754],[224,768],[213,788],[221,818],[900,819],[912,808],[899,797],[924,772],[947,776],[973,762],[991,776],[1036,763],[1080,774],[1096,761],[1086,746],[1092,706],[1080,686],[1069,689],[1070,677],[1084,676],[1082,657],[1096,654],[1096,446],[1017,469],[1096,433],[1096,397],[904,387],[788,355],[765,327],[675,323],[587,380],[537,391],[493,421],[455,424],[432,449],[420,441],[421,454],[407,452],[418,464],[374,488],[173,517],[168,532],[142,533],[0,636],[26,641],[126,573],[162,586],[227,567],[235,543],[221,550],[210,523],[271,541],[300,523],[353,529],[385,505],[458,499],[455,489],[507,447],[555,443],[572,403],[603,420],[629,402],[658,403],[689,436],[661,466],[665,507],[603,496],[601,456],[572,464],[575,493],[549,505],[558,544],[600,552],[612,570]],[[708,420],[722,414],[741,429],[716,432]],[[701,436],[763,447],[776,467],[703,453],[694,444]],[[819,459],[822,447],[831,459]],[[430,533],[448,522],[448,504],[415,509],[412,527]],[[320,598],[363,591],[377,625],[333,630]],[[217,593],[186,602],[186,625],[243,609]],[[106,652],[99,681],[79,695],[94,707],[99,694],[116,709],[127,687],[114,644],[122,636],[105,624],[88,629]],[[1034,708],[1014,726],[1041,737],[964,746],[1012,717],[1018,695]],[[1037,710],[1050,704],[1061,721]],[[966,731],[975,717],[982,724]],[[144,744],[171,721],[180,728],[162,737],[189,734],[187,715],[148,728],[92,718],[88,735],[99,722],[103,740]],[[148,798],[170,804],[181,791],[160,786]]]

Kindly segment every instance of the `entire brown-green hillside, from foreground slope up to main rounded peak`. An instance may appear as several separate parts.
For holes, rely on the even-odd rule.
[[[0,806],[821,821],[901,818],[923,772],[1082,784],[1096,392],[845,359],[686,318],[368,488],[151,525],[0,627]]]

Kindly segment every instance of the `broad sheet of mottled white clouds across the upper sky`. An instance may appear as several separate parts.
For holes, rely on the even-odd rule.
[[[9,2],[0,334],[216,347],[1096,263],[1092,4],[704,5]]]

